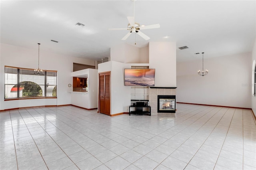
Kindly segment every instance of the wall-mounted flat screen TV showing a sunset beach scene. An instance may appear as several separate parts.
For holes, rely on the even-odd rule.
[[[155,69],[124,69],[125,86],[154,86]]]

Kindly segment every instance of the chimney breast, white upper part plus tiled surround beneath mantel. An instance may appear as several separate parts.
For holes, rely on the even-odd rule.
[[[155,87],[176,87],[176,43],[150,42],[149,68],[156,69]],[[152,115],[158,114],[158,95],[176,95],[176,89],[149,89]]]

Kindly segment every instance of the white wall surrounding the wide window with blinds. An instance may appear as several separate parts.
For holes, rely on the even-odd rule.
[[[36,45],[35,45],[36,46]],[[57,72],[57,99],[27,99],[4,101],[4,66],[37,68],[38,48],[28,49],[15,45],[1,43],[0,52],[0,110],[17,107],[32,107],[44,105],[68,105],[71,97],[68,84],[72,84],[70,73],[73,71],[73,63],[94,65],[94,61],[82,58],[60,55],[44,51],[40,46],[40,68],[56,70]],[[37,47],[37,46],[36,46]]]

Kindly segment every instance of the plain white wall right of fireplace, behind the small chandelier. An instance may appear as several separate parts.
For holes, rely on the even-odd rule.
[[[205,55],[207,56],[207,55]],[[251,54],[177,63],[177,102],[251,108]]]

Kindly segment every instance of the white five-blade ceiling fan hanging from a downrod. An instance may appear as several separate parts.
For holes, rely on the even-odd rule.
[[[134,0],[133,0],[134,2]],[[152,28],[160,28],[159,24],[153,24],[148,26],[140,26],[138,22],[134,21],[134,6],[133,6],[133,16],[127,17],[129,24],[127,28],[110,28],[109,30],[129,30],[129,32],[122,38],[122,40],[126,40],[133,32],[144,38],[145,40],[149,40],[150,38],[142,33],[140,30],[152,29]]]

